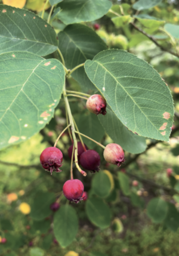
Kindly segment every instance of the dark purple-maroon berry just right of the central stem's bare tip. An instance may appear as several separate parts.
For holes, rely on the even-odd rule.
[[[82,153],[80,157],[80,164],[88,171],[95,172],[100,170],[100,155],[93,149],[88,149]]]

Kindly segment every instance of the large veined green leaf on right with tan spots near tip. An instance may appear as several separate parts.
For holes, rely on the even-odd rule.
[[[106,50],[85,62],[85,71],[129,130],[169,140],[174,108],[161,76],[144,60],[122,50]]]

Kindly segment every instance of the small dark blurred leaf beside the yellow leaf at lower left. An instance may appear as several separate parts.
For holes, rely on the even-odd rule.
[[[41,192],[35,196],[31,206],[30,217],[33,220],[43,220],[51,214],[50,205],[55,202],[55,194],[50,192]]]

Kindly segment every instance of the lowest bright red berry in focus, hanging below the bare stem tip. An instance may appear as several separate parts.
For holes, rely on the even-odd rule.
[[[67,180],[63,185],[63,194],[69,201],[79,203],[83,193],[84,184],[80,180]]]

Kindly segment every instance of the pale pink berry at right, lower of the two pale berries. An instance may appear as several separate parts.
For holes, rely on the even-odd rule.
[[[125,161],[122,147],[116,143],[108,144],[104,149],[104,159],[113,165],[121,166]]]

